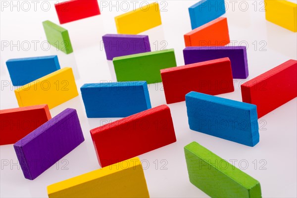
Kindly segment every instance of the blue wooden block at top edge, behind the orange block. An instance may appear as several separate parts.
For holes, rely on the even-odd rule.
[[[200,0],[189,7],[192,29],[220,17],[225,12],[224,0]]]

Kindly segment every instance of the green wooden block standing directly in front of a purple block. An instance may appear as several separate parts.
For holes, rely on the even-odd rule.
[[[174,49],[137,53],[113,58],[116,79],[120,81],[162,82],[160,70],[176,67]]]

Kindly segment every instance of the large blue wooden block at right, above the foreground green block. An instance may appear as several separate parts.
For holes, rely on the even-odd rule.
[[[198,92],[186,104],[190,129],[250,147],[259,142],[256,105]]]

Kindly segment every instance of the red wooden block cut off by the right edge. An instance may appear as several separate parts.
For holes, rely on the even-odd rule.
[[[297,60],[281,65],[241,85],[244,102],[257,105],[258,118],[297,97]]]

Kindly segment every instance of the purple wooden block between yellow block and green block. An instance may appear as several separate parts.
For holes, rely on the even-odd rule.
[[[107,60],[150,51],[147,35],[105,34],[102,40]]]

